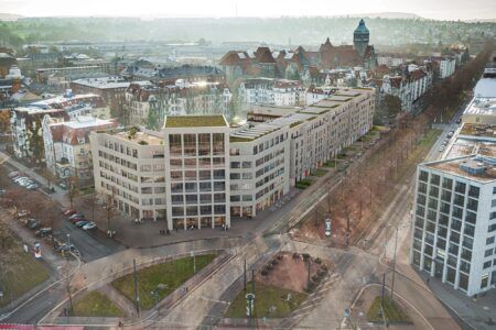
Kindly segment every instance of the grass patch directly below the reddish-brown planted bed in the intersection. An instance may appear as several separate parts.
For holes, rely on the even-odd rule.
[[[231,301],[226,318],[246,317],[246,294],[251,292],[251,283],[247,284],[247,292],[240,290]],[[291,300],[288,301],[288,294]],[[306,294],[296,293],[274,286],[255,283],[255,315],[257,318],[283,318],[290,315],[306,299]],[[276,307],[276,308],[272,308]],[[270,309],[272,308],[272,311]]]

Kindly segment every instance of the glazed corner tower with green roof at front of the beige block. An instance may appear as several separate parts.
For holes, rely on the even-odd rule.
[[[163,133],[170,227],[230,227],[229,125],[224,116],[166,117]]]

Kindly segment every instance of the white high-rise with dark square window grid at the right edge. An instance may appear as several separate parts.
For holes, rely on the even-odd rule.
[[[410,262],[468,296],[496,284],[496,158],[468,155],[417,170]]]

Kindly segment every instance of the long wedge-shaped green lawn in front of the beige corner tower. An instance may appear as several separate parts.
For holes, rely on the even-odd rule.
[[[216,257],[216,254],[204,254],[196,256],[196,273],[205,267]],[[159,299],[163,299],[166,295],[180,287],[184,282],[194,275],[193,257],[184,257],[169,261],[163,264],[153,265],[138,271],[138,287],[140,294],[140,305],[142,309],[151,309],[155,299],[151,295],[159,284],[165,288],[159,290]],[[132,274],[128,274],[115,279],[111,285],[122,295],[134,301],[134,284]]]

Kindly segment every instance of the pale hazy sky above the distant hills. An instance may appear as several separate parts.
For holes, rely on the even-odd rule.
[[[409,12],[436,20],[496,19],[496,0],[0,0],[28,16],[312,16]]]

